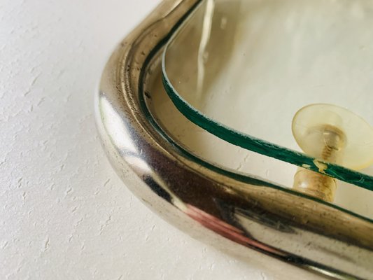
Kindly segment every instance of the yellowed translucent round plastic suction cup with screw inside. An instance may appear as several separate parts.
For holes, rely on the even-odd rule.
[[[350,169],[373,164],[373,127],[355,113],[331,104],[297,111],[292,130],[304,153]]]

